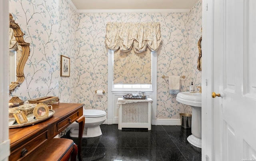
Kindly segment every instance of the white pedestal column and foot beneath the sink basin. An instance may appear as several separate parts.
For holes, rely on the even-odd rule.
[[[202,110],[201,107],[192,107],[191,133],[187,140],[192,145],[202,148]]]

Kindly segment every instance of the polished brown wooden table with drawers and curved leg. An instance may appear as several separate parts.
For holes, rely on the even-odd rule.
[[[38,147],[47,141],[51,141],[51,139],[75,121],[79,123],[78,159],[82,161],[83,106],[84,104],[57,102],[52,104],[52,110],[55,113],[51,118],[31,126],[9,129],[11,151],[9,161],[22,160],[25,158],[24,156],[29,158],[33,151],[36,151]],[[41,157],[43,156],[42,154]]]

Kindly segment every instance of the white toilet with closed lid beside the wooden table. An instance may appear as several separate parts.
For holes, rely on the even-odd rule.
[[[85,117],[83,137],[97,137],[102,135],[100,125],[106,120],[106,112],[102,110],[83,110]],[[70,136],[78,137],[79,125],[77,122],[70,126]]]

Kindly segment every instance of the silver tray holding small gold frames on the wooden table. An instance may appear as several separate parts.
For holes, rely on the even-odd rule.
[[[28,119],[28,122],[24,123],[24,124],[14,124],[13,123],[15,122],[15,118],[10,118],[9,119],[9,128],[20,128],[20,127],[24,127],[24,126],[28,126],[28,125],[34,125],[38,122],[42,122],[44,120],[47,120],[48,118],[52,117],[53,114],[55,113],[54,110],[49,110],[49,115],[47,118],[43,118],[43,119],[40,119],[40,120],[36,120],[36,118],[34,118],[34,114],[29,114],[27,116],[27,119]]]

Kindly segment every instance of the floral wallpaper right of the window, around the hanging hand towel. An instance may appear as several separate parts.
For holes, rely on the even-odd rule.
[[[180,118],[180,113],[191,113],[192,109],[177,102],[176,94],[169,94],[168,79],[161,76],[185,76],[185,79],[181,78],[181,91],[189,91],[191,82],[201,86],[202,75],[197,69],[197,42],[202,35],[202,2],[198,1],[189,14],[170,13],[162,17],[162,46],[158,51],[157,69],[157,117]]]

